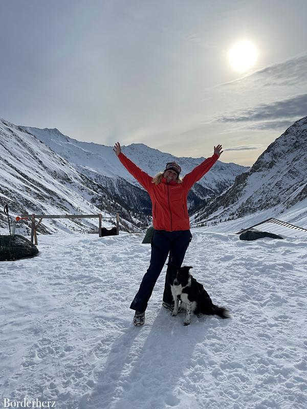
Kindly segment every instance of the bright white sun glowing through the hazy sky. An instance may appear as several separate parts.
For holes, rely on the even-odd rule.
[[[235,71],[243,73],[256,62],[258,52],[254,44],[248,40],[238,41],[228,51],[229,63]]]

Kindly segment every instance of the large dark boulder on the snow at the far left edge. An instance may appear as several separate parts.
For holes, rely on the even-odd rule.
[[[37,254],[38,248],[24,236],[0,236],[0,261],[25,259]]]

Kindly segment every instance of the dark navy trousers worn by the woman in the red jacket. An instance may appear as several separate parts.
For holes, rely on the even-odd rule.
[[[187,248],[192,239],[189,230],[179,230],[167,232],[166,230],[155,230],[151,240],[150,265],[141,282],[130,308],[143,312],[147,308],[147,303],[151,297],[153,287],[160,276],[169,253],[169,262],[181,267]],[[172,303],[170,284],[168,281],[168,270],[166,271],[163,301]]]

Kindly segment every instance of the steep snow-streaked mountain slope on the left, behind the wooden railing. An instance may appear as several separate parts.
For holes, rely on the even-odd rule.
[[[0,120],[0,206],[8,203],[10,215],[121,214],[121,229],[136,230],[140,220],[116,202],[107,190],[78,172],[69,162],[25,129]],[[12,220],[11,220],[12,221]],[[110,220],[103,221],[111,226]],[[114,225],[114,223],[113,223]],[[0,228],[8,230],[7,215],[0,212]],[[27,230],[27,226],[24,228]],[[60,230],[89,232],[97,219],[44,219],[38,232]]]

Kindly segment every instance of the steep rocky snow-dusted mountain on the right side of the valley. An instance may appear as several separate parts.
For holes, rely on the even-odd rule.
[[[195,215],[196,223],[233,219],[261,212],[264,218],[282,214],[307,198],[307,117],[290,126],[262,153],[248,172]],[[290,221],[302,220],[305,207]]]

